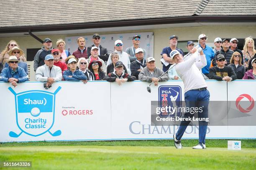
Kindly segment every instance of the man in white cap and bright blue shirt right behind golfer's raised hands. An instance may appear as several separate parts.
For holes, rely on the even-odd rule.
[[[199,45],[197,45],[196,47],[201,47],[205,57],[206,57],[206,61],[207,61],[207,65],[205,67],[202,68],[202,73],[204,73],[204,75],[206,75],[207,77],[209,77],[209,67],[211,65],[211,61],[214,58],[214,51],[212,50],[212,47],[206,45],[207,42],[207,36],[205,34],[200,34],[198,36],[198,42]]]

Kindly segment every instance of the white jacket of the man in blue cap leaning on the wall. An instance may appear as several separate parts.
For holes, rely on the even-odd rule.
[[[46,64],[44,64],[36,69],[36,81],[47,82],[48,77],[54,78],[54,82],[61,81],[61,68],[54,65],[50,71],[49,67]]]

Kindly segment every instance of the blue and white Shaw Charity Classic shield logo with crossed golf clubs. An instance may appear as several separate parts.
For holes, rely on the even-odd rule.
[[[10,131],[9,136],[18,138],[22,133],[31,136],[40,136],[49,132],[52,136],[61,135],[61,131],[50,132],[54,124],[55,95],[42,90],[30,90],[16,93],[11,87],[8,88],[15,96],[16,123],[21,130],[20,133]]]

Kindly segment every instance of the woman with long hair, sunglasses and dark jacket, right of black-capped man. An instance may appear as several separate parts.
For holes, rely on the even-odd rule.
[[[231,59],[230,65],[236,73],[237,79],[243,79],[245,73],[245,67],[242,65],[242,57],[239,52],[234,52]]]

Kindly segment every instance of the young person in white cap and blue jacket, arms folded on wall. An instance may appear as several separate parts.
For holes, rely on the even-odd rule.
[[[77,60],[70,58],[68,61],[69,70],[63,72],[63,78],[66,81],[80,81],[87,83],[87,77],[82,71],[77,70]]]

